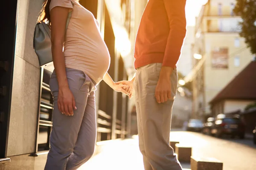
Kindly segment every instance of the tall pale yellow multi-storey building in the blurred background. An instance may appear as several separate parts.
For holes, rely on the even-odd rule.
[[[192,116],[211,114],[209,101],[230,82],[253,55],[239,37],[241,17],[235,16],[236,0],[208,0],[196,18],[193,69],[186,82],[193,84]]]

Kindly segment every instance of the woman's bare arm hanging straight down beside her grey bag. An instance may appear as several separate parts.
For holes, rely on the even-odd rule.
[[[50,11],[51,15],[51,41],[52,60],[58,79],[58,109],[66,115],[73,115],[76,103],[67,82],[65,59],[63,54],[63,43],[66,31],[66,22],[69,8],[55,7]]]

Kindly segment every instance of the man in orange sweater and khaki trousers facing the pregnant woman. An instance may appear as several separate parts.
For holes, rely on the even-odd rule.
[[[169,137],[177,92],[176,63],[186,35],[185,5],[186,0],[148,1],[135,42],[136,76],[117,82],[135,90],[145,170],[182,169]]]

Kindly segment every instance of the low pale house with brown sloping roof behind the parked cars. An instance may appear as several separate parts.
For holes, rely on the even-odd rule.
[[[256,102],[256,60],[250,62],[210,101],[212,115],[244,112]]]

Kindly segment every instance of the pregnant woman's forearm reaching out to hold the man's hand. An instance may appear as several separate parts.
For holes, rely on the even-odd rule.
[[[124,93],[125,95],[130,95],[128,93],[129,91],[129,87],[127,85],[122,85],[122,84],[115,84],[115,82],[113,82],[113,79],[110,77],[110,75],[108,73],[105,74],[105,76],[103,77],[103,81],[105,83],[107,83],[109,85],[109,87],[113,88],[114,91],[117,91],[117,92],[122,92]],[[124,89],[125,88],[128,88],[127,91],[125,91]]]

